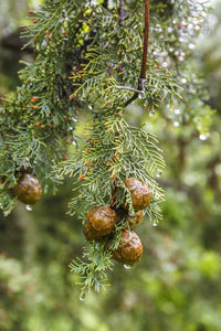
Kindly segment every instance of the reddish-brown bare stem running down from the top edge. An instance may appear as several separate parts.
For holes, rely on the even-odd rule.
[[[144,49],[143,49],[143,61],[141,61],[141,71],[139,75],[138,82],[138,90],[144,90],[144,84],[146,79],[146,71],[147,71],[147,54],[148,54],[148,45],[149,45],[149,0],[145,0],[145,36],[144,36]],[[133,97],[125,104],[128,106],[138,97],[138,93],[135,93]]]

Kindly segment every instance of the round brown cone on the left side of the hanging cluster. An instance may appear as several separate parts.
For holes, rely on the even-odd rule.
[[[94,207],[87,213],[84,235],[87,241],[99,241],[109,234],[117,221],[117,214],[108,206]]]

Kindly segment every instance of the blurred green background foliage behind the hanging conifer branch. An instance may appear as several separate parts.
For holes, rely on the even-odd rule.
[[[169,32],[164,18],[155,19],[155,10],[160,18],[159,3],[152,1],[157,29],[150,30],[151,52],[161,54],[161,63],[167,58],[162,51],[169,53],[167,65],[178,72],[182,99],[176,97],[173,105],[166,99],[154,114],[149,105],[162,96],[155,95],[152,87],[148,107],[137,100],[125,118],[131,126],[146,124],[164,150],[167,167],[158,179],[166,195],[164,220],[155,227],[146,217],[138,228],[144,244],[139,264],[125,269],[116,263],[109,273],[112,286],[80,301],[78,277],[67,267],[81,256],[84,244],[82,222],[66,215],[75,181],[66,179],[55,196],[44,194],[31,212],[19,202],[9,216],[0,212],[1,331],[221,330],[221,9],[209,19],[212,31],[203,31],[189,52],[191,38],[187,43],[177,34],[186,29],[185,8],[177,12],[172,1],[164,1],[173,15],[170,20],[180,24]],[[1,96],[13,95],[19,84],[19,60],[33,62],[31,49],[19,51],[22,44],[14,32],[28,22],[27,10],[33,4],[0,0]],[[200,28],[201,22],[192,13],[189,24]],[[80,119],[77,135],[84,137],[86,111]]]

